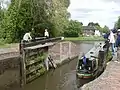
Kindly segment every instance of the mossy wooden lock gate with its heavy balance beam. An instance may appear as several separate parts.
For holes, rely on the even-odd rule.
[[[53,46],[57,38],[39,38],[31,42],[21,41],[21,85],[34,80],[45,72],[44,60],[48,57],[48,47]]]

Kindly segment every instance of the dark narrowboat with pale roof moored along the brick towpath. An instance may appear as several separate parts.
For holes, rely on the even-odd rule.
[[[106,68],[112,59],[109,42],[98,43],[88,53],[78,58],[76,76],[79,79],[95,78]]]

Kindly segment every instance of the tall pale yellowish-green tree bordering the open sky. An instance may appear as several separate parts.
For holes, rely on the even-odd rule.
[[[53,0],[52,5],[48,9],[50,11],[50,21],[54,25],[53,30],[57,35],[62,35],[68,26],[70,13],[67,12],[67,8],[69,2],[69,0]]]

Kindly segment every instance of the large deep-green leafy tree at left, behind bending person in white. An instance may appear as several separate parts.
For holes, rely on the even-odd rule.
[[[2,37],[7,42],[20,40],[32,26],[29,0],[12,0],[2,21]]]

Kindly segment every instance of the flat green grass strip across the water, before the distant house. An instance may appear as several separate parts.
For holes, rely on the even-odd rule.
[[[79,40],[79,41],[102,41],[104,40],[103,37],[95,37],[95,36],[89,36],[89,37],[68,37],[65,38],[65,40],[69,40],[69,41],[75,41],[75,40]]]

